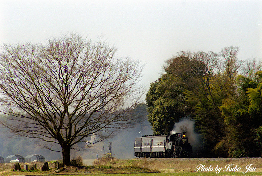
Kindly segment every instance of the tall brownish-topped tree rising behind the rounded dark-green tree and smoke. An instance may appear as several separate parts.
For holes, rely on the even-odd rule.
[[[214,150],[224,136],[223,117],[219,110],[222,100],[214,89],[219,54],[181,52],[166,63],[165,70],[185,85],[184,93],[192,107],[191,118],[196,121],[196,130],[201,134],[206,149]]]

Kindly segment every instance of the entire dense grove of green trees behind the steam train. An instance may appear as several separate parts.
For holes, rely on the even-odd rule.
[[[147,92],[154,132],[169,132],[174,122],[190,115],[205,143],[205,156],[260,156],[261,62],[239,60],[238,51],[233,46],[219,53],[182,51],[168,59],[163,66],[166,74]],[[172,101],[180,108],[169,110],[166,102]]]

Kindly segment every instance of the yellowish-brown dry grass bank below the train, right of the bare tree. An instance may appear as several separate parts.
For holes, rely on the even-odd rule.
[[[135,166],[140,168],[148,168],[150,170],[158,170],[161,172],[195,172],[196,167],[199,165],[205,167],[222,167],[225,169],[227,164],[234,164],[240,167],[240,172],[245,171],[248,164],[256,167],[256,172],[262,172],[262,159],[261,158],[140,158],[133,160],[120,160],[113,166]]]

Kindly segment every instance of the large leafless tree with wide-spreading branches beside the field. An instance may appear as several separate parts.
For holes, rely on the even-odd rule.
[[[94,134],[102,141],[135,122],[130,111],[142,95],[142,66],[115,58],[116,49],[101,39],[92,44],[69,34],[46,45],[2,48],[0,102],[7,114],[2,125],[20,136],[59,144],[65,165],[77,143]]]

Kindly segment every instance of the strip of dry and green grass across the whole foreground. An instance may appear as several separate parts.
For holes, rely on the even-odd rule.
[[[106,176],[229,176],[229,175],[262,175],[262,158],[140,158],[140,159],[115,159],[104,158],[99,161],[93,160],[93,166],[81,167],[65,167],[61,172],[57,173],[54,169],[54,163],[49,163],[50,170],[41,171],[40,167],[43,163],[38,163],[38,169],[33,172],[14,172],[11,171],[14,164],[5,164],[0,166],[0,175],[52,175],[61,174],[63,176],[78,175],[106,175]],[[89,164],[91,161],[88,161]],[[22,163],[21,163],[22,165]],[[198,165],[205,168],[213,168],[212,171],[195,171]],[[223,171],[225,166],[232,165],[232,168],[240,168],[237,172]],[[251,165],[256,170],[245,172],[245,167]],[[23,167],[23,166],[22,166]],[[215,172],[215,168],[220,167],[219,173]],[[145,173],[147,172],[147,173]],[[149,173],[151,172],[151,173]],[[157,172],[157,173],[152,173]],[[132,174],[136,173],[136,174]]]

